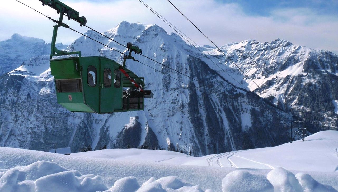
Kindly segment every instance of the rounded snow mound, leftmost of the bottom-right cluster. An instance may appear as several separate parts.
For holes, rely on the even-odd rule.
[[[245,170],[228,173],[222,180],[223,192],[273,192],[272,184],[264,175],[251,174]]]

